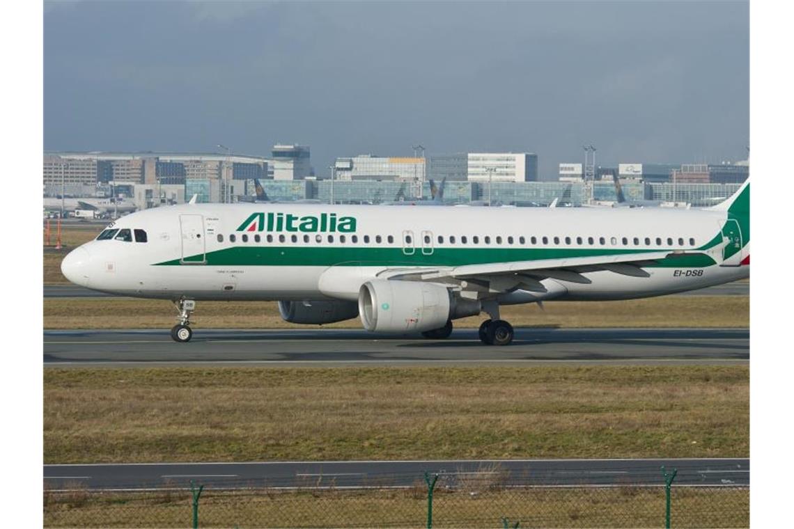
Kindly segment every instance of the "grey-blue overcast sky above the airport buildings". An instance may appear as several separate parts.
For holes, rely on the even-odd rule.
[[[44,148],[745,159],[749,33],[747,2],[45,2]]]

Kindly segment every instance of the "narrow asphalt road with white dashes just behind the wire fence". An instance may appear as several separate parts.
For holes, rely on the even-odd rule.
[[[187,487],[213,488],[407,487],[424,473],[437,486],[454,487],[472,477],[504,485],[664,485],[661,466],[677,470],[675,484],[750,485],[749,459],[524,459],[489,461],[251,462],[45,465],[52,489]],[[492,482],[492,481],[491,481]]]

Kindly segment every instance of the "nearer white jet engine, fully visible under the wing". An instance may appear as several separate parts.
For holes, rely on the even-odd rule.
[[[422,332],[479,314],[480,301],[454,297],[433,283],[373,279],[359,290],[358,312],[368,331]]]

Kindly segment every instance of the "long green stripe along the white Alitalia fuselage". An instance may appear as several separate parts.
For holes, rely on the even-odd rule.
[[[540,259],[565,259],[626,254],[643,254],[646,250],[603,250],[587,248],[435,248],[426,255],[416,248],[406,255],[401,247],[294,247],[236,246],[206,254],[209,266],[463,266],[484,263],[509,263]],[[666,250],[672,251],[672,250]],[[638,255],[638,259],[642,259]],[[192,260],[191,258],[185,259]],[[200,260],[200,259],[199,259]],[[179,266],[172,259],[160,266]],[[704,254],[671,255],[649,267],[702,267],[715,264]]]

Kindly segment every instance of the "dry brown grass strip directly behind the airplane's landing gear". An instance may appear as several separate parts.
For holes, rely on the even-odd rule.
[[[274,301],[201,301],[191,321],[196,328],[312,328],[288,324]],[[108,317],[112,314],[113,317]],[[172,324],[170,301],[129,298],[44,299],[44,328],[164,328]],[[654,297],[630,301],[549,301],[502,308],[516,327],[715,327],[750,326],[750,300],[744,296]],[[483,317],[455,320],[457,328],[476,328]],[[358,319],[326,325],[360,328]]]

